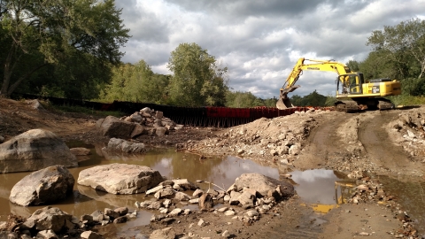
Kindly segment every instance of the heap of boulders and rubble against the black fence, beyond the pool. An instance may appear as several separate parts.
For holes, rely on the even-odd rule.
[[[164,117],[163,112],[151,110],[148,107],[130,116],[120,119],[108,116],[97,120],[96,126],[104,136],[122,139],[136,138],[140,135],[167,135],[170,130],[180,129],[173,120]]]

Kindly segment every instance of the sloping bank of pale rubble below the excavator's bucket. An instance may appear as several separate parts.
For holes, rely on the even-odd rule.
[[[328,112],[310,109],[274,119],[261,118],[230,127],[216,137],[178,145],[188,150],[202,149],[207,154],[233,152],[243,158],[273,158],[288,164],[303,148],[302,142],[316,125],[315,118]]]

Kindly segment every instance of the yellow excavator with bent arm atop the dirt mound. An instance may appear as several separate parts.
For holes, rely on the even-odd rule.
[[[310,63],[305,64],[305,61]],[[276,107],[279,110],[294,107],[290,103],[288,93],[299,88],[295,85],[303,71],[328,71],[338,74],[336,78],[336,103],[338,112],[359,112],[363,110],[387,110],[394,107],[390,100],[383,96],[401,94],[399,81],[381,78],[365,81],[363,73],[354,73],[350,67],[333,60],[317,60],[299,58],[294,69],[282,86]]]

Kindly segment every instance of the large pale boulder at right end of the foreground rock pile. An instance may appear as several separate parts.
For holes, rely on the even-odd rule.
[[[241,191],[243,188],[256,190],[262,197],[266,197],[269,190],[275,190],[277,186],[280,186],[282,197],[294,195],[294,186],[290,182],[275,180],[259,173],[243,173],[236,178],[233,186],[236,191]]]

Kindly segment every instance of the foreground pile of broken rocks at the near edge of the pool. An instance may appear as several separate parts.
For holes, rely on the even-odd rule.
[[[202,181],[198,181],[202,182]],[[196,189],[192,196],[180,190]],[[151,217],[151,221],[161,221],[170,224],[174,217],[188,215],[190,209],[181,209],[175,206],[175,201],[186,201],[189,204],[198,204],[201,211],[223,213],[234,219],[251,223],[259,220],[261,214],[269,212],[276,202],[294,195],[293,186],[286,181],[277,181],[259,173],[243,173],[228,190],[208,189],[206,192],[197,189],[187,180],[163,181],[158,187],[148,190],[146,194],[154,194],[158,200],[135,202],[137,208],[157,210],[159,213]],[[214,204],[228,204],[220,209],[213,209]],[[186,204],[186,203],[183,203]],[[240,206],[243,212],[232,206]],[[202,223],[201,223],[202,224]]]

